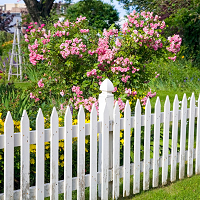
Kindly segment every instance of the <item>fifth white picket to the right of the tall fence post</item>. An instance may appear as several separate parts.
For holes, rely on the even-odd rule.
[[[160,146],[160,99],[157,97],[154,118],[154,144],[153,144],[153,187],[159,182],[159,146]]]

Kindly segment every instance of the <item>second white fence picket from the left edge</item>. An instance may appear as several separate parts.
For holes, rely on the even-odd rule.
[[[20,174],[20,199],[29,199],[30,187],[30,138],[29,138],[29,118],[24,110],[21,118],[21,174]]]

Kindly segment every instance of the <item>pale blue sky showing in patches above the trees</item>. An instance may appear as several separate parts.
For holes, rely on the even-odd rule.
[[[78,2],[78,0],[73,0],[73,3]],[[122,18],[124,15],[126,15],[126,11],[122,8],[123,5],[119,4],[118,1],[113,0],[113,3],[110,0],[103,0],[105,3],[109,3],[111,5],[114,5],[117,11],[119,12],[119,17]],[[19,1],[18,0],[0,0],[0,4],[5,4],[5,3],[23,3],[23,0]]]

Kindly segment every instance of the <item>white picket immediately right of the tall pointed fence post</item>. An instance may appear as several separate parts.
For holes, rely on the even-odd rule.
[[[118,102],[115,103],[113,121],[113,199],[118,199],[120,166],[120,112]]]

